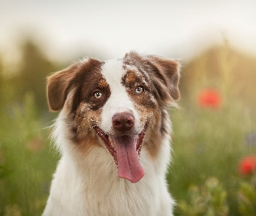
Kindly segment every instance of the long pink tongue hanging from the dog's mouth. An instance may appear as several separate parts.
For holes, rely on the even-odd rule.
[[[122,136],[112,138],[118,162],[118,176],[133,183],[144,176],[139,156],[136,150],[135,137]]]

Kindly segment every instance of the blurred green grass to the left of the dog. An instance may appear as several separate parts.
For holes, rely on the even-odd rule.
[[[0,215],[40,215],[49,194],[56,159],[49,131],[36,115],[35,100],[12,105],[0,125]]]

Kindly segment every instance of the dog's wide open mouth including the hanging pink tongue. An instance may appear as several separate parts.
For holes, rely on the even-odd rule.
[[[141,167],[139,157],[147,125],[145,124],[144,129],[138,135],[123,135],[121,137],[110,136],[97,125],[94,125],[97,135],[101,137],[114,158],[119,177],[133,183],[140,181],[144,176],[144,169]]]

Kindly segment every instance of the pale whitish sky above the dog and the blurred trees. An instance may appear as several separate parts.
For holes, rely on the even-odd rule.
[[[0,0],[0,54],[34,35],[51,58],[121,58],[130,50],[188,60],[227,39],[256,54],[255,0]]]

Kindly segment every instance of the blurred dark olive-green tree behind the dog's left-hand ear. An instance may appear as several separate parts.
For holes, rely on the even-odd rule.
[[[21,102],[20,99],[27,92],[33,92],[38,109],[46,109],[46,77],[56,72],[56,64],[30,38],[23,41],[20,52],[21,60],[17,62],[16,76],[7,80],[12,87],[10,98]]]

